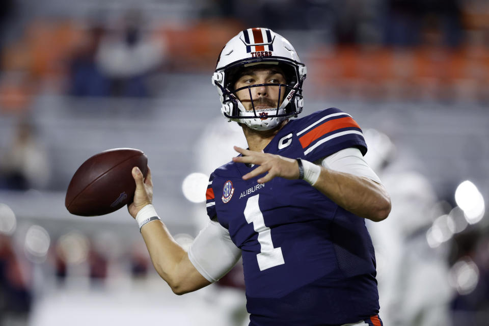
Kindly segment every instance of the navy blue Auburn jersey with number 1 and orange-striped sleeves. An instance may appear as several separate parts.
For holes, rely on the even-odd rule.
[[[289,121],[264,152],[315,161],[349,147],[366,153],[362,130],[329,108]],[[365,220],[304,180],[242,180],[255,168],[230,162],[216,169],[206,204],[242,251],[251,324],[342,324],[376,315]]]

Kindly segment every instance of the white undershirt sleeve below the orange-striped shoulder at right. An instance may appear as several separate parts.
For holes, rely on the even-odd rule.
[[[330,156],[315,161],[315,164],[358,177],[366,177],[382,184],[381,179],[373,172],[372,168],[369,167],[363,158],[362,152],[355,147],[342,149]]]

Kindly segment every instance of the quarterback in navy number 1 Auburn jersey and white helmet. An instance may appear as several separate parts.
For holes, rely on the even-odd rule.
[[[207,226],[185,252],[152,203],[138,168],[128,207],[158,274],[177,294],[223,277],[242,257],[250,325],[380,326],[375,254],[365,219],[387,218],[389,195],[363,159],[347,113],[303,110],[306,66],[282,36],[241,31],[221,51],[212,84],[248,149],[216,169]]]

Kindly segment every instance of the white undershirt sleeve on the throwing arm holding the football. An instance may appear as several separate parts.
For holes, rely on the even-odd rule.
[[[209,221],[188,250],[188,259],[209,282],[226,275],[240,257],[241,250],[231,240],[229,231],[216,221]]]

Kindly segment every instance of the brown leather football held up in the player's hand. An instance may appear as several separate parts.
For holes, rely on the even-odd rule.
[[[87,159],[71,178],[65,206],[80,216],[112,213],[132,202],[136,189],[131,170],[146,177],[148,158],[139,149],[114,148]]]

